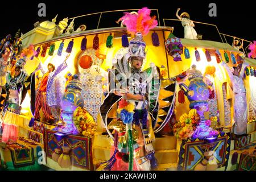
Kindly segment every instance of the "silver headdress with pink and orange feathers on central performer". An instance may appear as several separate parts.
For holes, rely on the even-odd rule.
[[[127,28],[127,32],[131,35],[135,35],[135,38],[130,41],[129,51],[130,56],[146,57],[146,44],[143,42],[143,36],[158,25],[156,16],[150,16],[151,10],[147,7],[143,7],[138,13],[124,13],[118,20],[122,20]]]

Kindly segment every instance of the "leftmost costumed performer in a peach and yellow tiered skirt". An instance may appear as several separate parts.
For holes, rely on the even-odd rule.
[[[20,100],[20,93],[26,88],[24,82],[31,78],[27,72],[23,69],[26,64],[27,58],[34,55],[33,46],[24,49],[20,55],[20,59],[15,64],[15,74],[14,77],[11,75],[10,71],[6,73],[6,91],[7,97],[5,102],[5,107],[2,110],[2,121],[3,121],[3,134],[2,142],[16,142],[18,140],[18,122],[19,114],[21,108],[21,103],[24,98]]]

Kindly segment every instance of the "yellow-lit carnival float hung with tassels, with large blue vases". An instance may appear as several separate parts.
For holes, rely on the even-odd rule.
[[[255,170],[255,41],[203,40],[179,10],[185,39],[123,12],[1,40],[1,170]]]

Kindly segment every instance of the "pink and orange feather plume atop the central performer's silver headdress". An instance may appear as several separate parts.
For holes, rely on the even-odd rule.
[[[158,25],[156,16],[151,17],[150,13],[150,9],[143,7],[138,11],[138,14],[124,13],[125,15],[119,20],[122,20],[122,23],[126,25],[129,34],[134,35],[141,32],[144,36],[147,35],[152,28],[155,28]]]

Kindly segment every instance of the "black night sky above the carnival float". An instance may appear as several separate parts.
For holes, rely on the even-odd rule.
[[[38,4],[40,2],[46,3],[46,17],[38,16]],[[208,15],[209,3],[214,2],[217,5],[217,17],[210,17]],[[233,2],[233,3],[232,3]],[[120,10],[120,9],[141,9],[148,7],[149,9],[159,9],[159,16],[161,26],[163,26],[163,18],[176,19],[175,13],[177,7],[180,7],[180,13],[186,11],[191,16],[191,19],[197,22],[205,22],[216,24],[221,33],[233,35],[249,41],[256,40],[255,31],[252,28],[254,19],[254,7],[250,1],[240,1],[239,4],[234,1],[162,1],[162,0],[146,0],[146,1],[19,1],[1,2],[0,11],[0,38],[2,39],[7,34],[15,34],[20,28],[22,33],[26,33],[33,28],[33,24],[37,21],[51,20],[56,14],[59,14],[57,22],[63,18],[71,18],[83,14],[96,13],[100,11]],[[153,14],[155,14],[153,12]],[[156,15],[156,14],[155,14]],[[122,13],[114,13],[102,16],[100,28],[117,26],[114,22],[122,16]],[[88,29],[97,27],[97,15],[90,18],[81,18],[75,20],[75,29],[80,24],[86,24]],[[174,34],[183,38],[183,27],[180,22],[167,22],[167,26],[174,26]],[[217,40],[220,38],[217,34],[216,28],[209,26],[202,26],[196,24],[195,27],[198,34],[203,35],[203,39]],[[228,40],[231,41],[232,40]]]

